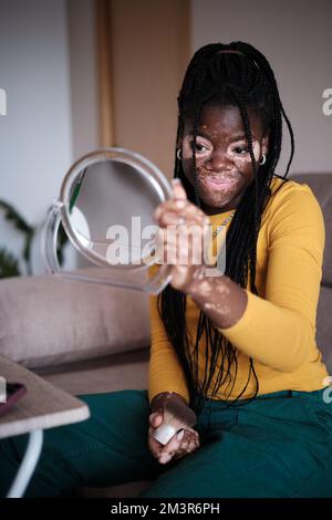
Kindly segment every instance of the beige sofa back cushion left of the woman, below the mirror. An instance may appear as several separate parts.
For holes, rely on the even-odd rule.
[[[0,352],[30,368],[147,347],[149,337],[146,293],[52,274],[0,281]]]

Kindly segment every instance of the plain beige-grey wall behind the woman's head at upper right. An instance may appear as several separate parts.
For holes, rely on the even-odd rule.
[[[332,89],[331,0],[191,0],[193,52],[231,41],[255,45],[269,60],[295,135],[290,173],[332,171],[332,115],[322,93]],[[278,173],[289,157],[289,137]]]

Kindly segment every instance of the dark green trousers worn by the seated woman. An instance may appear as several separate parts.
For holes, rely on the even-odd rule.
[[[200,448],[165,466],[147,447],[146,391],[80,396],[91,418],[44,431],[25,496],[70,496],[77,486],[152,479],[142,498],[332,497],[329,392],[277,392],[228,409],[227,402],[207,399],[196,425]],[[27,436],[0,444],[1,496],[25,445]]]

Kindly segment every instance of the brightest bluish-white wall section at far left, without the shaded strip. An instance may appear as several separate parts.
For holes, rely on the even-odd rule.
[[[0,12],[0,198],[37,223],[72,162],[65,2],[1,0]],[[0,233],[15,252],[20,236],[3,220]]]

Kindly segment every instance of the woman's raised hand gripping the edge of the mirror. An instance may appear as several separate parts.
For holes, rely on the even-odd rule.
[[[189,292],[190,283],[204,278],[209,217],[189,202],[180,181],[173,181],[173,196],[162,202],[154,218],[159,226],[157,256],[172,266],[170,285]]]

